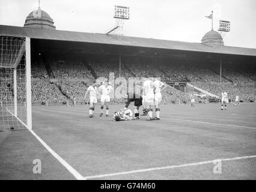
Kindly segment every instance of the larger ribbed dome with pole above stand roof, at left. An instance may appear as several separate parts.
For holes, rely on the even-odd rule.
[[[50,18],[49,14],[45,11],[41,10],[38,7],[37,10],[29,13],[28,17],[26,17],[26,21],[24,24],[25,28],[41,28],[41,29],[55,29],[56,26],[53,25],[53,20]]]

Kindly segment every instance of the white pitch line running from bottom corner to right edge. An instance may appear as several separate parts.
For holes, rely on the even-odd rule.
[[[256,155],[244,156],[244,157],[234,157],[234,158],[222,158],[222,159],[216,159],[216,160],[211,160],[211,161],[201,161],[198,163],[181,164],[181,165],[176,165],[176,166],[153,167],[153,168],[149,168],[149,169],[138,169],[138,170],[131,170],[128,172],[118,172],[118,173],[110,173],[110,174],[104,174],[104,175],[85,176],[85,179],[104,178],[104,177],[108,177],[108,176],[127,175],[127,174],[132,174],[132,173],[141,173],[141,172],[151,172],[154,170],[174,169],[174,168],[178,168],[178,167],[198,166],[198,165],[202,165],[202,164],[215,163],[216,161],[233,161],[233,160],[241,160],[241,159],[246,159],[246,158],[256,158]]]

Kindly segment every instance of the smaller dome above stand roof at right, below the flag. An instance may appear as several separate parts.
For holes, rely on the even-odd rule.
[[[202,38],[202,44],[207,44],[209,46],[224,46],[221,34],[219,34],[217,31],[214,31],[213,29],[204,35]]]

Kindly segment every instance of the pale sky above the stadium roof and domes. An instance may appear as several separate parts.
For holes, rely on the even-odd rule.
[[[105,34],[115,26],[115,5],[130,8],[124,22],[126,36],[201,43],[219,20],[231,23],[222,34],[225,46],[256,49],[255,0],[40,0],[41,10],[53,19],[57,30]],[[0,25],[23,26],[37,10],[38,0],[0,0]]]

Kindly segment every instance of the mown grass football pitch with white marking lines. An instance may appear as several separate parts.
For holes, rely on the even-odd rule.
[[[32,132],[0,132],[0,179],[256,179],[255,103],[166,104],[160,121],[112,121],[121,107],[99,117],[96,106],[94,118],[87,105],[32,107]]]

